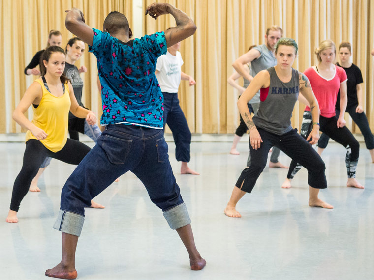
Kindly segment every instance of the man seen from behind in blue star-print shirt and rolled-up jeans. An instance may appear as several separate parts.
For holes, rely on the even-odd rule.
[[[125,15],[111,12],[103,30],[85,24],[80,10],[67,11],[66,28],[90,46],[97,57],[106,126],[97,145],[82,160],[62,188],[59,216],[54,228],[62,231],[62,261],[47,276],[77,277],[75,250],[84,222],[84,207],[116,178],[133,172],[162,209],[169,226],[176,229],[189,254],[192,270],[206,261],[197,251],[187,207],[180,195],[168,159],[163,136],[163,96],[155,77],[157,58],[167,46],[191,36],[196,26],[170,4],[154,3],[146,14],[157,19],[171,14],[176,27],[130,40],[132,31]]]

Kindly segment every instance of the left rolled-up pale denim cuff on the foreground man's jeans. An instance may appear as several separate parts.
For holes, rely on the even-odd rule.
[[[85,218],[82,215],[60,209],[53,228],[64,233],[80,236],[84,220]]]

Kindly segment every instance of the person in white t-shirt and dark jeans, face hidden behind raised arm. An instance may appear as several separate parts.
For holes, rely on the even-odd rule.
[[[181,173],[200,175],[188,167],[190,156],[191,132],[185,114],[179,105],[178,88],[181,80],[189,81],[189,86],[196,81],[181,70],[183,64],[181,53],[178,52],[181,43],[167,49],[166,55],[158,57],[156,64],[156,77],[164,96],[164,128],[167,124],[175,142],[175,157],[182,162]]]

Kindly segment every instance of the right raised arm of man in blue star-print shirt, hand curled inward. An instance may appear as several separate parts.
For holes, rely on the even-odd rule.
[[[186,13],[167,3],[153,3],[146,8],[146,15],[149,14],[155,20],[160,15],[171,14],[177,24],[176,27],[165,31],[167,47],[192,36],[196,31],[196,25]]]

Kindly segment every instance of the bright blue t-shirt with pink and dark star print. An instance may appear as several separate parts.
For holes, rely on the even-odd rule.
[[[103,114],[101,125],[134,124],[163,129],[163,96],[155,76],[166,54],[164,32],[127,43],[93,28],[89,51],[97,58]]]

